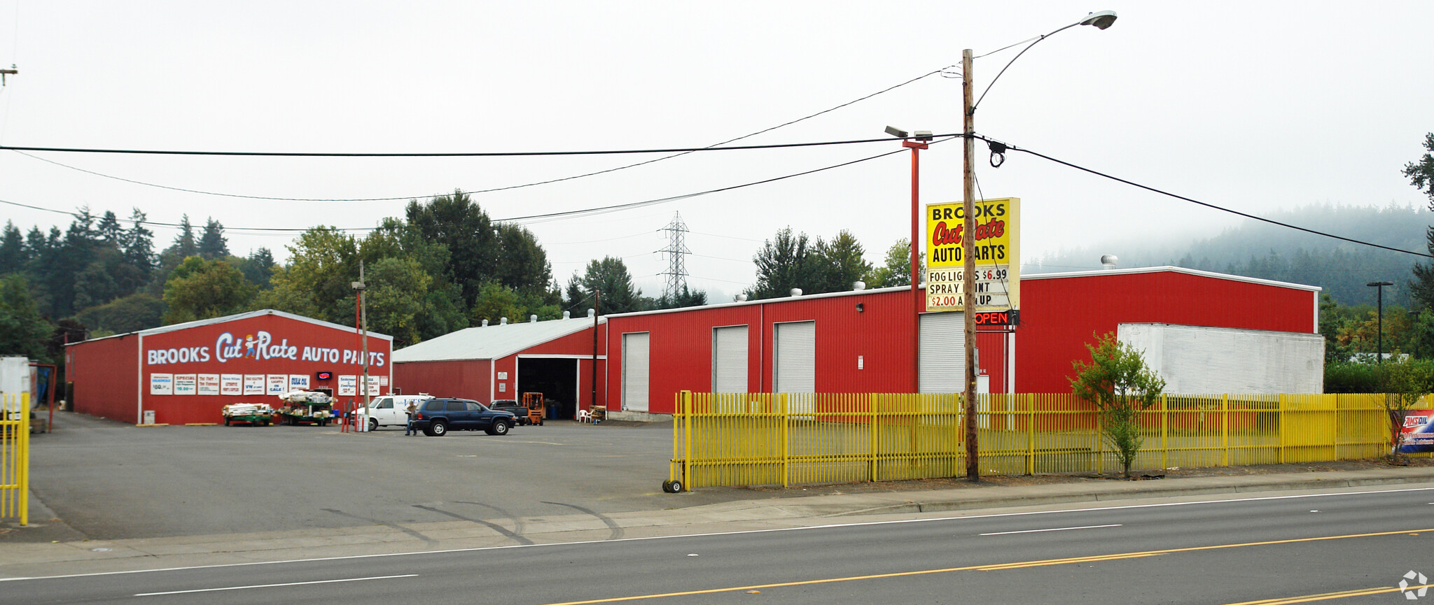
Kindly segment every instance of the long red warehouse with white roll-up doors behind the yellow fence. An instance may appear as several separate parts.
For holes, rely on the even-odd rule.
[[[1266,348],[1232,341],[1292,338],[1282,367],[1322,390],[1319,288],[1179,267],[1025,275],[1018,325],[981,325],[978,391],[1068,393],[1071,363],[1093,334],[1195,331],[1166,348],[1182,363],[1249,367]],[[911,288],[858,290],[608,315],[604,351],[611,417],[671,414],[681,390],[714,393],[955,393],[964,389],[959,313],[918,313]],[[1212,333],[1213,330],[1213,333]],[[1215,334],[1212,337],[1209,334]],[[1233,335],[1230,335],[1233,334]],[[1233,340],[1232,340],[1233,338]],[[1242,340],[1243,338],[1243,340]],[[1212,348],[1202,351],[1200,348]],[[1240,348],[1240,350],[1219,350]],[[1200,356],[1190,357],[1189,353]],[[1243,356],[1243,357],[1242,357]],[[1222,361],[1223,360],[1223,361]],[[1173,370],[1173,363],[1167,370]],[[1253,393],[1249,384],[1200,389]],[[1268,390],[1260,390],[1268,391]],[[1193,393],[1193,391],[1192,391]]]

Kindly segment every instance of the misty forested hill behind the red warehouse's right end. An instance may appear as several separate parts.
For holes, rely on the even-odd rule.
[[[1428,252],[1424,232],[1434,221],[1414,206],[1316,205],[1268,215],[1273,221],[1398,249]],[[1421,257],[1391,252],[1302,231],[1245,221],[1209,239],[1187,244],[1159,241],[1103,242],[1063,251],[1022,265],[1024,272],[1100,268],[1101,254],[1120,257],[1120,267],[1176,265],[1325,288],[1341,304],[1374,304],[1371,281],[1392,281],[1387,304],[1408,305],[1408,281]]]

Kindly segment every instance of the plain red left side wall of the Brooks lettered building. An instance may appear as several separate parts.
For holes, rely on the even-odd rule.
[[[125,334],[69,347],[67,380],[75,383],[75,411],[139,423],[139,335]]]

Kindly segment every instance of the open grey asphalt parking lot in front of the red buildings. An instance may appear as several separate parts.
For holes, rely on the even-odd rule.
[[[751,497],[728,489],[663,493],[671,423],[615,424],[549,421],[508,436],[407,437],[403,429],[340,433],[336,426],[135,427],[56,413],[56,432],[36,434],[30,456],[30,490],[46,516],[32,512],[32,525],[49,529],[0,532],[0,542],[455,519],[515,528],[519,516]]]

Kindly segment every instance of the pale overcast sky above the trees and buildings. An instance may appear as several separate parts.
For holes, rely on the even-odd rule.
[[[1116,10],[1107,30],[1035,44],[977,112],[977,132],[1190,198],[1268,214],[1311,204],[1423,205],[1400,168],[1434,130],[1434,3],[875,1],[22,1],[0,0],[0,143],[278,152],[508,152],[707,146]],[[979,57],[977,89],[1022,46]],[[934,75],[743,143],[961,130],[961,80]],[[684,155],[561,184],[476,194],[496,219],[640,202],[899,149],[880,142]],[[655,155],[314,159],[0,151],[0,199],[228,228],[281,259],[288,232],[373,227],[406,199],[581,175]],[[1024,153],[988,198],[1022,199],[1027,259],[1123,235],[1203,238],[1232,215]],[[777,229],[850,229],[878,262],[911,231],[909,156],[558,221],[519,221],[561,281],[625,259],[660,295],[663,229],[681,212],[688,284],[730,300]],[[922,155],[922,201],[961,198],[961,145]],[[0,205],[22,229],[57,214]],[[168,245],[174,229],[158,228]],[[1120,254],[1119,249],[1110,252]],[[1088,268],[1097,268],[1091,258]]]

